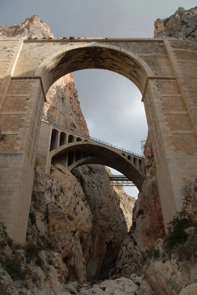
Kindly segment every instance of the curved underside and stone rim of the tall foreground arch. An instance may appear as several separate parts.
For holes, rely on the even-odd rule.
[[[62,76],[83,69],[106,69],[116,72],[130,81],[143,93],[147,76],[153,76],[148,64],[131,51],[89,42],[74,44],[46,58],[37,68],[35,76],[41,76],[45,93]]]

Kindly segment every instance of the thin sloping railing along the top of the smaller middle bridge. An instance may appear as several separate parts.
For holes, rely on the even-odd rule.
[[[44,122],[45,122],[45,121],[44,121]],[[114,145],[112,145],[112,144],[110,144],[110,143],[104,142],[104,141],[102,141],[102,140],[100,140],[100,139],[97,139],[97,138],[95,138],[95,137],[91,137],[91,136],[89,136],[89,135],[85,135],[85,134],[83,134],[83,133],[81,133],[81,132],[78,132],[78,131],[76,131],[76,130],[73,130],[73,129],[67,128],[67,127],[65,127],[65,126],[61,126],[61,125],[57,124],[55,121],[53,121],[53,120],[48,120],[48,122],[49,122],[50,124],[52,124],[53,126],[56,126],[56,127],[60,128],[60,129],[63,129],[63,130],[66,130],[66,131],[70,131],[70,132],[72,132],[72,133],[74,133],[74,134],[77,134],[77,135],[83,136],[84,138],[91,139],[91,140],[93,140],[93,141],[95,141],[95,142],[97,142],[97,143],[101,143],[101,144],[103,144],[103,145],[105,145],[105,146],[109,146],[109,147],[111,147],[111,148],[116,148],[116,149],[119,149],[119,150],[125,151],[125,152],[127,152],[127,153],[129,153],[129,154],[132,154],[132,155],[134,155],[134,156],[137,156],[137,157],[140,157],[140,158],[144,158],[144,156],[142,156],[142,155],[140,155],[140,154],[138,154],[138,153],[135,153],[135,152],[133,152],[133,151],[130,151],[130,150],[128,150],[128,149],[120,148],[120,147],[114,146]]]

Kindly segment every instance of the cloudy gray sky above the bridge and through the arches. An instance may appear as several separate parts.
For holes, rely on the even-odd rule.
[[[153,37],[154,21],[190,9],[196,0],[0,0],[0,26],[38,15],[55,37]],[[90,135],[141,153],[147,123],[141,93],[125,77],[105,70],[74,73]],[[137,197],[138,190],[126,188]]]

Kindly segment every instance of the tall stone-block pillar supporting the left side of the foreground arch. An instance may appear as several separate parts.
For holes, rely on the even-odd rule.
[[[11,80],[0,116],[0,216],[20,243],[26,239],[43,106],[39,79]]]

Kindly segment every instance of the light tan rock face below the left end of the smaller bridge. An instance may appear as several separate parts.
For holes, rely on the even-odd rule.
[[[56,181],[58,184],[61,183],[62,189],[59,188],[58,196],[54,202],[58,202],[66,214],[72,230],[76,231],[87,261],[87,245],[90,243],[92,231],[92,214],[80,182],[66,168],[58,164],[52,167],[51,178],[55,183]]]

